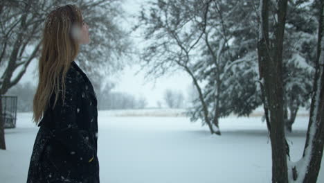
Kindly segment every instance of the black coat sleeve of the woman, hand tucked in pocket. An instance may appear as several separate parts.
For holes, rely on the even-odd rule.
[[[68,153],[78,157],[78,161],[90,163],[95,151],[89,143],[89,132],[80,130],[77,125],[77,115],[80,111],[78,98],[80,97],[80,84],[78,79],[66,75],[65,99],[59,97],[53,109],[55,123],[54,137],[68,150]],[[62,96],[62,95],[61,95]]]

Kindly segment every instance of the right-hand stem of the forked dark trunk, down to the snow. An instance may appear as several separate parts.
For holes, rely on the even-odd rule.
[[[271,120],[271,149],[272,149],[272,182],[288,182],[287,147],[285,139],[285,123],[283,121],[283,83],[282,83],[282,47],[284,42],[287,0],[278,1],[278,23],[275,30],[276,41],[273,61],[269,67],[269,109]],[[270,69],[274,69],[271,71]],[[275,84],[275,85],[273,85]]]

